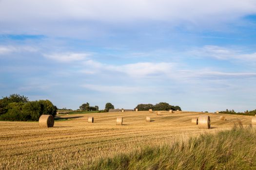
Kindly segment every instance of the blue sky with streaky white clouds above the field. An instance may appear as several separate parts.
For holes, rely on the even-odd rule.
[[[256,0],[0,0],[0,96],[256,109]]]

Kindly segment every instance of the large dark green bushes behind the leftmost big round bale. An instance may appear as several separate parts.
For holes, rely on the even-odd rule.
[[[4,111],[0,120],[38,120],[42,114],[55,116],[57,112],[57,107],[49,100],[29,102],[27,97],[17,94],[1,99],[0,106]]]

